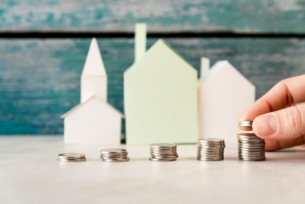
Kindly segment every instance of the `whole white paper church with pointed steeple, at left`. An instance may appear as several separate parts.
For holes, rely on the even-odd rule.
[[[61,116],[64,143],[120,144],[123,115],[107,103],[107,74],[95,38],[80,83],[80,103]]]

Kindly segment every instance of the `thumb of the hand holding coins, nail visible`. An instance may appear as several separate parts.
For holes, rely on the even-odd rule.
[[[289,140],[305,134],[305,104],[266,113],[254,119],[254,133],[266,140]]]

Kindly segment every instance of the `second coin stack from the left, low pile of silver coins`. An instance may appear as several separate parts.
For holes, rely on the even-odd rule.
[[[100,158],[104,162],[127,162],[129,157],[127,157],[128,152],[126,149],[102,149],[100,150]]]

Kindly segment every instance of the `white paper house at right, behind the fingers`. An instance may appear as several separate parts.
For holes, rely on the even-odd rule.
[[[209,65],[201,68],[207,70]],[[199,80],[199,129],[202,138],[235,142],[237,121],[255,101],[255,86],[229,61],[217,61]]]

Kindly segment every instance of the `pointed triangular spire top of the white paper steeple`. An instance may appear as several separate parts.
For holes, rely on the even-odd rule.
[[[107,77],[105,66],[95,38],[92,39],[85,61],[82,76]]]

